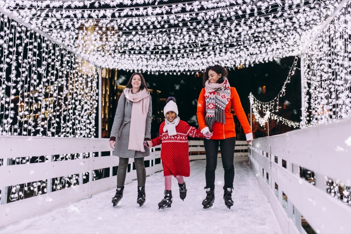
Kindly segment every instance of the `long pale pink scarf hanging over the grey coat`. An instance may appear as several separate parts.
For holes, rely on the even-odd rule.
[[[145,123],[150,103],[149,92],[144,88],[133,94],[131,88],[125,88],[123,93],[126,99],[133,102],[128,149],[145,152]]]

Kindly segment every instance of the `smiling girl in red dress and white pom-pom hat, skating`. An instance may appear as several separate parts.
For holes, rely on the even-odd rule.
[[[178,107],[174,97],[167,99],[163,113],[166,119],[160,125],[159,136],[151,141],[145,141],[145,145],[148,147],[162,143],[161,160],[165,176],[165,197],[158,203],[159,210],[171,207],[172,175],[178,181],[179,196],[184,201],[187,189],[183,176],[188,177],[190,175],[188,136],[204,137],[200,129],[191,127],[187,122],[179,119]],[[210,139],[211,135],[206,134],[205,137]]]

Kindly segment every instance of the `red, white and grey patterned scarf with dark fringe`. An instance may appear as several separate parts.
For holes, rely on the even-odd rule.
[[[205,83],[206,115],[205,123],[212,128],[214,122],[225,124],[224,109],[230,101],[230,85],[225,78],[222,83]]]

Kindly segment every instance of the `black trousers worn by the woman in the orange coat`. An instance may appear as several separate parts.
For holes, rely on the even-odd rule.
[[[221,158],[224,169],[224,187],[232,188],[234,181],[234,148],[235,137],[223,140],[204,139],[206,152],[206,188],[214,189],[215,171],[217,167],[218,146],[220,145]]]

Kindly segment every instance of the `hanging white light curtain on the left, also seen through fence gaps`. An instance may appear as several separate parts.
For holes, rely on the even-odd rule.
[[[93,137],[97,68],[7,16],[0,16],[0,26],[0,135]],[[62,154],[53,160],[79,156]],[[12,163],[49,159],[13,158]],[[53,189],[76,185],[77,176],[55,178]],[[28,189],[40,195],[46,186],[47,180],[15,185],[9,198],[24,199]]]

